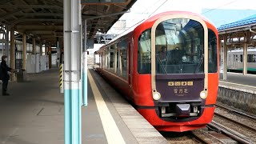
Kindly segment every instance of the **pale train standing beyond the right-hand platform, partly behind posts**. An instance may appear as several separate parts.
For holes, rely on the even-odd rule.
[[[228,50],[227,52],[227,69],[228,71],[238,72],[243,69],[243,50]],[[256,49],[247,50],[247,70],[256,72]]]

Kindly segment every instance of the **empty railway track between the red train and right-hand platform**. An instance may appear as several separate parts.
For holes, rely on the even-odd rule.
[[[240,143],[256,143],[256,116],[242,110],[217,104],[214,121],[208,126]]]

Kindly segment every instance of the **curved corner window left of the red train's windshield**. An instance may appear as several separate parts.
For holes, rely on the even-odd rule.
[[[138,73],[151,72],[151,30],[145,30],[138,38]]]

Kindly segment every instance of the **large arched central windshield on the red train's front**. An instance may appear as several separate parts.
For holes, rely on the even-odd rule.
[[[156,74],[204,73],[204,30],[187,18],[158,24],[155,34]]]

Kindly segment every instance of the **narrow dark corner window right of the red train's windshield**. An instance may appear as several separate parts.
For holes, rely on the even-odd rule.
[[[208,29],[208,72],[217,72],[217,37],[213,30]]]

